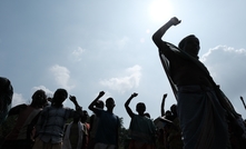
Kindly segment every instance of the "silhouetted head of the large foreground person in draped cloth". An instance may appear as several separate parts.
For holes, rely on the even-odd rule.
[[[198,58],[198,52],[200,50],[199,39],[194,34],[187,36],[179,42],[178,48],[190,56]]]

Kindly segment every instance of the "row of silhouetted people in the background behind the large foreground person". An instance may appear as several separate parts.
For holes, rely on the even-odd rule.
[[[6,93],[8,92],[11,91]],[[134,113],[129,103],[138,93],[134,92],[129,97],[125,103],[126,111],[131,118],[127,133],[128,143],[121,146],[120,121],[112,112],[115,101],[108,98],[105,103],[100,100],[104,95],[105,92],[100,91],[89,105],[88,108],[94,111],[89,116],[79,106],[75,96],[69,97],[75,103],[75,109],[62,106],[68,98],[66,89],[57,89],[52,98],[47,98],[43,90],[37,90],[31,97],[30,105],[18,105],[9,110],[8,118],[16,116],[10,121],[14,126],[4,138],[1,138],[1,149],[183,149],[177,105],[165,111],[167,95],[164,95],[161,100],[161,116],[155,120],[146,112],[144,102],[137,103],[137,113]],[[105,107],[107,110],[104,110]],[[8,118],[0,131],[6,129]],[[235,149],[239,149],[242,142],[230,135],[230,143]]]

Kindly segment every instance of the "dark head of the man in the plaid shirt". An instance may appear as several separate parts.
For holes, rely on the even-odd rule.
[[[62,102],[68,98],[68,92],[66,89],[57,89],[53,93],[52,105],[61,106]]]

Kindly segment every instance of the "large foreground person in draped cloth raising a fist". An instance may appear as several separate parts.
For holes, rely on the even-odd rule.
[[[154,33],[152,40],[177,98],[184,148],[226,149],[229,147],[226,116],[236,119],[238,115],[198,60],[198,38],[190,34],[178,48],[161,40],[170,27],[180,22],[176,17],[171,18]]]

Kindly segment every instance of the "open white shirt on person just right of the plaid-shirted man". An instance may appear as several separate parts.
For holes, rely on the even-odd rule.
[[[67,129],[65,132],[65,138],[63,138],[62,149],[71,149],[71,143],[69,140],[71,126],[72,126],[72,122],[70,122],[67,126]],[[78,131],[79,131],[79,136],[78,136],[77,149],[81,149],[82,148],[83,125],[80,121],[78,122]]]

